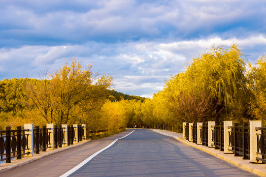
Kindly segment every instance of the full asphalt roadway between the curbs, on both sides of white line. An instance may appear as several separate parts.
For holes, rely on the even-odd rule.
[[[60,177],[133,130],[88,142],[0,174]],[[136,129],[69,177],[254,177],[220,159],[151,130]]]

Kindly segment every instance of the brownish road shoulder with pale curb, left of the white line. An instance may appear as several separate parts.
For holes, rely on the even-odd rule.
[[[127,130],[91,142],[85,140],[69,147],[47,150],[46,152],[34,154],[33,157],[14,160],[9,164],[0,164],[0,177],[59,177],[85,160],[88,156],[105,148],[115,139],[123,137],[129,132],[130,130]],[[34,167],[32,166],[33,164]]]

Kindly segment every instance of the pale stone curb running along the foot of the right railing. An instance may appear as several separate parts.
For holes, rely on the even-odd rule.
[[[250,172],[250,173],[252,173],[254,175],[258,175],[260,177],[266,177],[266,168],[265,167],[264,167],[265,168],[265,171],[262,171],[262,170],[259,170],[259,169],[254,169],[254,168],[252,168],[250,166],[247,166],[247,165],[245,165],[243,163],[239,163],[239,162],[237,162],[237,161],[235,161],[233,159],[230,159],[228,157],[225,157],[225,156],[223,156],[223,155],[221,155],[221,154],[219,154],[217,152],[213,152],[213,151],[208,150],[206,148],[201,148],[201,147],[196,146],[196,145],[194,145],[192,143],[185,142],[185,141],[181,140],[180,138],[178,138],[178,137],[176,137],[174,135],[169,135],[167,133],[160,132],[160,131],[157,131],[155,129],[151,129],[151,130],[154,131],[154,132],[156,132],[156,133],[160,133],[162,135],[165,135],[165,136],[168,136],[168,137],[172,137],[172,138],[178,140],[179,142],[181,142],[181,143],[183,143],[183,144],[185,144],[187,146],[190,146],[190,147],[193,147],[193,148],[197,148],[199,150],[202,150],[204,152],[207,152],[207,153],[209,153],[209,154],[211,154],[211,155],[213,155],[213,156],[215,156],[215,157],[217,157],[217,158],[219,158],[219,159],[221,159],[221,160],[223,160],[223,161],[225,161],[227,163],[230,163],[231,165],[233,165],[235,167],[238,167],[241,170],[245,170],[247,172]],[[252,164],[252,163],[250,163],[250,164]],[[256,165],[258,165],[258,164],[256,164]]]

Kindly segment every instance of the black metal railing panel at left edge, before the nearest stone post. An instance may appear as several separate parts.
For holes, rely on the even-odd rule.
[[[11,127],[6,127],[5,130],[0,130],[0,161],[11,163],[11,159],[17,157],[21,159],[22,155],[29,154],[28,134],[25,134],[25,129],[20,126],[16,130],[11,130]]]

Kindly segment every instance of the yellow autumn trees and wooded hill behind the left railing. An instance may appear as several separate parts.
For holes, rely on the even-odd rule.
[[[76,59],[39,76],[0,81],[0,129],[24,123],[86,123],[90,130],[115,130],[127,124],[116,102],[145,99],[110,90],[113,76],[93,72],[92,64],[82,66]]]

